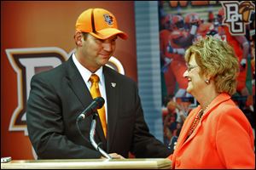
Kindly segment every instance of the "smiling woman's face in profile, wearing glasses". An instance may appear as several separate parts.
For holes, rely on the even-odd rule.
[[[206,82],[200,76],[200,67],[195,61],[195,54],[192,54],[188,63],[188,69],[183,73],[183,77],[188,79],[187,92],[194,97],[201,94],[202,89],[206,87]]]

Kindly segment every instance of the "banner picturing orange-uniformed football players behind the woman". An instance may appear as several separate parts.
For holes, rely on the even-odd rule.
[[[185,116],[197,106],[186,93],[184,53],[212,35],[234,47],[240,63],[237,93],[232,96],[254,127],[255,2],[160,1],[160,61],[165,143],[173,148]],[[189,35],[190,34],[190,35]],[[189,38],[194,36],[193,39]],[[245,56],[245,59],[242,59]],[[182,112],[181,112],[182,111]],[[182,116],[182,114],[184,116]]]

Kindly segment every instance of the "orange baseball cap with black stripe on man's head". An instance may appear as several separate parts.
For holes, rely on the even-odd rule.
[[[118,29],[114,15],[103,8],[89,8],[79,15],[76,22],[76,31],[89,32],[99,39],[107,39],[117,35],[122,39],[128,36]]]

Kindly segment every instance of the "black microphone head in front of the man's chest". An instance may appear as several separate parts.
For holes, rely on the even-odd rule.
[[[97,97],[93,99],[91,104],[88,105],[88,107],[86,107],[85,110],[78,116],[77,121],[80,121],[85,117],[92,115],[97,111],[97,109],[101,109],[104,103],[105,100],[102,97]]]

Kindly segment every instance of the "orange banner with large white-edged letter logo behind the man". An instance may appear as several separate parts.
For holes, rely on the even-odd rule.
[[[137,82],[133,2],[1,1],[1,157],[36,157],[26,130],[30,80],[69,58],[75,22],[87,8],[108,9],[129,35],[117,40],[108,65]]]

